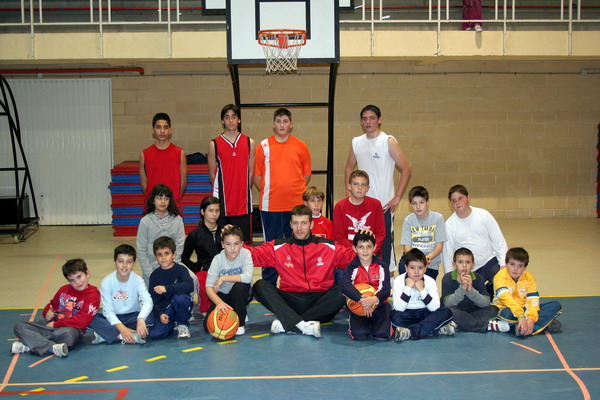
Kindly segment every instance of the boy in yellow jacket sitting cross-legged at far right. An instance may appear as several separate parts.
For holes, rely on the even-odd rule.
[[[500,309],[498,318],[515,327],[517,336],[537,335],[548,328],[549,332],[560,330],[556,319],[562,313],[557,301],[540,304],[535,278],[526,271],[529,254],[521,247],[506,253],[506,268],[494,277],[494,305]]]

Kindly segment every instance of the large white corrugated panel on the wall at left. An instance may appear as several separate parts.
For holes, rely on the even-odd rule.
[[[40,223],[110,224],[111,80],[12,79],[8,83],[19,112]],[[0,167],[12,167],[6,118],[0,118]],[[0,195],[10,194],[14,197],[14,177],[2,172]]]

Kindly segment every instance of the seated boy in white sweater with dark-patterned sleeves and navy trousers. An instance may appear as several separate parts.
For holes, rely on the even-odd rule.
[[[433,278],[425,274],[427,261],[419,249],[406,254],[406,272],[394,279],[394,305],[390,314],[396,327],[394,339],[422,339],[429,335],[454,335],[456,324],[452,312],[440,306],[440,296]]]

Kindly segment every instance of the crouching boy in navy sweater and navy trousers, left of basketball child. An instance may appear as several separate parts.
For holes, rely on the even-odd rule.
[[[154,303],[154,325],[148,330],[152,339],[164,339],[175,330],[177,337],[190,337],[194,281],[189,270],[175,260],[175,242],[168,236],[154,241],[154,255],[160,268],[150,275],[150,296]]]

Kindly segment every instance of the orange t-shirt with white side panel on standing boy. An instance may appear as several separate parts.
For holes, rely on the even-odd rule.
[[[261,211],[291,211],[304,204],[305,176],[312,173],[310,151],[295,136],[279,143],[271,136],[256,146],[254,175],[260,182],[259,208]]]

